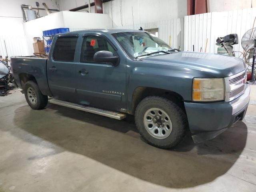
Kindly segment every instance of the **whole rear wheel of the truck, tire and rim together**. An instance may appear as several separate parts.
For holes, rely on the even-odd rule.
[[[48,96],[42,94],[34,81],[26,82],[24,92],[26,101],[32,109],[40,110],[47,105]]]

